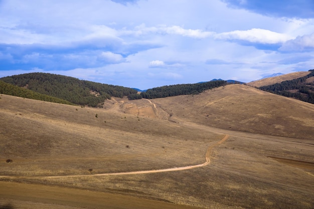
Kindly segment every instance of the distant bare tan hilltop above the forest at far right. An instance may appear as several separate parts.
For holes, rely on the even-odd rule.
[[[275,83],[280,83],[282,81],[288,81],[288,80],[300,78],[300,77],[306,76],[308,74],[310,74],[309,71],[300,71],[300,72],[289,73],[289,74],[285,74],[285,75],[281,75],[281,76],[265,78],[265,79],[261,79],[258,81],[251,81],[249,83],[246,83],[246,85],[252,86],[252,87],[267,86],[267,85],[272,85]]]

